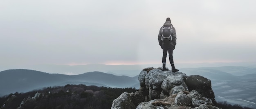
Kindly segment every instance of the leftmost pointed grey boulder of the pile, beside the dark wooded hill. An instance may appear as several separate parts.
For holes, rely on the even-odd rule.
[[[111,109],[135,109],[131,96],[124,92],[118,98],[113,100]]]

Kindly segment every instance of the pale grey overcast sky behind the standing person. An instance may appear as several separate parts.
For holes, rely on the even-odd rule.
[[[0,65],[256,61],[256,0],[0,0]],[[168,58],[167,58],[168,59]],[[168,62],[168,61],[167,61]]]

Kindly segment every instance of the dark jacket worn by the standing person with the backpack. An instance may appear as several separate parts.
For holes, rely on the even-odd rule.
[[[165,39],[162,40],[162,28],[163,27],[172,27],[172,35],[171,35],[171,40],[169,39]],[[176,30],[175,28],[173,27],[173,24],[171,24],[170,21],[166,21],[164,23],[164,25],[160,28],[160,31],[159,31],[159,34],[158,34],[158,42],[159,42],[159,45],[160,46],[163,46],[164,48],[169,48],[169,47],[172,47],[172,46],[175,46],[176,45]]]

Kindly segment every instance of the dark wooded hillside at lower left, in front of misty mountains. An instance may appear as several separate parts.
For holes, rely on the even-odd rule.
[[[110,109],[112,101],[122,93],[136,91],[135,88],[68,84],[3,96],[0,98],[0,109]]]

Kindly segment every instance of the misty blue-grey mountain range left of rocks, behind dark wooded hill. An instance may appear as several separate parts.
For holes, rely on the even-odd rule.
[[[139,86],[139,81],[138,76],[116,76],[103,72],[87,72],[79,75],[49,74],[25,69],[0,72],[0,96],[67,84],[125,88]]]

